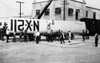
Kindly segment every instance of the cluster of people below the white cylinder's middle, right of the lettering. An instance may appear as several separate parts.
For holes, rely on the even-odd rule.
[[[65,39],[65,34],[62,30],[58,30],[57,32],[53,32],[53,30],[51,30],[49,33],[47,33],[47,41],[48,42],[53,42],[53,40],[55,40],[58,37],[58,41],[60,41],[60,44],[65,43],[64,39]],[[68,31],[68,42],[71,42],[71,32]]]

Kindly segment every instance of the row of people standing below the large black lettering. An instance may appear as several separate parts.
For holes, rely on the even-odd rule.
[[[31,35],[33,35],[33,37],[31,37],[31,38],[36,38],[35,39],[36,44],[39,44],[39,40],[40,40],[40,33],[39,33],[39,31],[37,31],[35,34],[31,34]],[[13,33],[12,36],[13,36],[12,41],[16,42],[17,41],[16,40],[16,33]],[[6,37],[7,37],[7,41],[6,42],[9,43],[9,37],[10,37],[9,29],[6,30]],[[21,32],[19,33],[19,41],[20,42],[28,42],[29,38],[30,38],[30,34],[29,35],[27,34],[27,30],[25,30],[25,31],[21,30]]]

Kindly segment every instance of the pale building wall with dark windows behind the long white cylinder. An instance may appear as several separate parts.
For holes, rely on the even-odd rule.
[[[34,2],[32,17],[38,16],[47,2]],[[100,9],[87,6],[84,0],[54,0],[41,19],[79,21],[81,18],[100,19]]]

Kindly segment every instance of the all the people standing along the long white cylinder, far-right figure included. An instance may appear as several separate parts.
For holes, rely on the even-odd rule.
[[[83,41],[85,41],[85,39],[89,39],[89,32],[87,32],[87,35],[85,33],[85,31],[83,30],[83,34],[82,34],[82,37],[83,37]],[[3,28],[0,29],[0,40],[4,40],[4,36],[6,36],[6,42],[9,43],[9,29],[7,29],[7,24],[4,24]],[[16,42],[16,33],[13,33],[13,39],[12,41],[13,42]],[[40,41],[40,32],[37,31],[35,34],[35,41],[36,41],[36,44],[39,44],[39,41]],[[20,32],[20,35],[19,35],[19,39],[20,39],[20,42],[27,42],[28,41],[28,38],[30,40],[30,37],[31,38],[34,38],[34,36],[31,36],[31,35],[27,35],[27,30],[23,31],[21,30]],[[72,40],[72,37],[74,37],[74,35],[71,33],[71,31],[68,31],[67,34],[65,34],[62,30],[58,30],[56,33],[53,32],[53,30],[50,31],[50,33],[47,33],[47,36],[46,36],[46,39],[48,42],[53,42],[54,40],[58,40],[60,41],[60,44],[65,44],[65,39],[67,38],[68,39],[68,42],[70,43],[71,40]],[[99,35],[96,33],[95,34],[95,47],[98,46],[98,39],[99,39]]]

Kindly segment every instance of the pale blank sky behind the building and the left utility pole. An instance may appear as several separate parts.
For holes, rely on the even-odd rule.
[[[23,15],[31,15],[32,3],[34,2],[34,0],[0,0],[0,18],[19,16],[19,3],[16,3],[16,1],[24,2],[22,4]],[[45,0],[35,0],[35,1],[39,2]],[[88,6],[100,9],[100,0],[85,0],[85,1]]]

